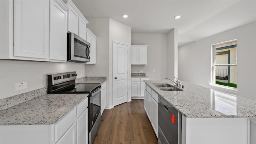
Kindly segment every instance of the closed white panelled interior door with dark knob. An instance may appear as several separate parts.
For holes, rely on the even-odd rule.
[[[127,102],[128,45],[114,42],[114,106]]]

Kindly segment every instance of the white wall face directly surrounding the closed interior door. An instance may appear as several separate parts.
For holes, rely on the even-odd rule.
[[[110,96],[113,96],[112,94],[112,80],[113,78],[113,41],[116,42],[122,42],[125,44],[128,44],[128,58],[130,56],[130,48],[131,48],[131,33],[132,29],[130,26],[126,26],[125,24],[122,24],[120,22],[117,22],[116,20],[112,20],[110,18],[110,35],[109,35],[109,85],[110,85]],[[130,67],[130,60],[128,60],[128,100],[131,100],[131,67]],[[114,106],[113,99],[109,99],[109,106]]]

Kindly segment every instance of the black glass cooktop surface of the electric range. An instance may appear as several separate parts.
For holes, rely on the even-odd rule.
[[[99,88],[100,84],[94,84],[94,83],[76,83],[76,84],[62,84],[58,85],[58,87],[53,87],[55,89],[52,91],[52,93],[55,94],[90,94],[92,93],[95,89]]]

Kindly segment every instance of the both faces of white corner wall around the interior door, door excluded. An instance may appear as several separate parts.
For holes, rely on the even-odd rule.
[[[113,40],[131,46],[131,27],[110,18],[87,18],[87,27],[97,36],[96,40],[96,64],[86,64],[86,76],[106,76],[107,77],[107,98],[106,108],[112,108],[112,80],[113,80]],[[129,52],[128,52],[129,54]],[[128,75],[131,75],[131,68],[128,62]],[[128,99],[131,99],[131,88],[128,78]]]

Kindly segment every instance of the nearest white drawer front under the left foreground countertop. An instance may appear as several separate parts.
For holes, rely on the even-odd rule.
[[[68,114],[54,124],[54,142],[58,141],[74,122],[76,122],[76,108],[70,110]]]

